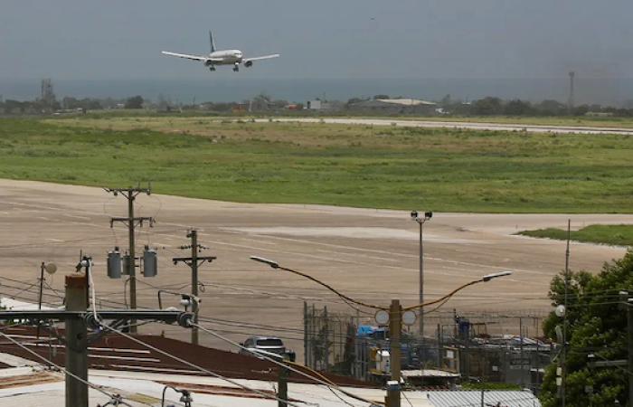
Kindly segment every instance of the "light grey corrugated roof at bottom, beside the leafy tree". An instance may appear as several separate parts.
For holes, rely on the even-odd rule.
[[[480,407],[480,390],[446,390],[427,393],[433,407]],[[485,407],[541,407],[541,402],[530,391],[486,390]]]

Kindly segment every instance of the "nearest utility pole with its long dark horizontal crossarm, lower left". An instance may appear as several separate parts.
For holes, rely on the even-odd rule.
[[[80,261],[80,267],[90,267],[90,262]],[[66,324],[66,337],[59,337],[65,344],[66,360],[66,407],[88,407],[88,346],[99,337],[116,329],[131,318],[160,320],[173,324],[177,322],[181,327],[191,327],[194,317],[188,312],[127,309],[88,309],[86,274],[73,273],[66,276],[66,308],[65,309],[37,309],[0,311],[0,321],[25,319],[33,324],[41,321],[58,320]],[[94,317],[95,312],[97,318]],[[114,320],[109,326],[101,321]],[[100,330],[88,335],[88,327]],[[51,330],[50,328],[44,327]],[[55,330],[55,332],[57,332]],[[57,334],[56,334],[57,335]]]

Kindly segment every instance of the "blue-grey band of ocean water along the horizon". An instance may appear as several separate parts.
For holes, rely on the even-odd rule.
[[[125,99],[141,95],[156,100],[162,94],[173,102],[229,102],[251,99],[264,91],[273,99],[305,102],[308,99],[343,100],[387,94],[392,98],[474,100],[487,96],[502,99],[567,102],[569,78],[557,79],[251,79],[244,77],[208,80],[55,80],[58,99]],[[0,80],[3,99],[29,100],[40,96],[40,80]],[[621,105],[633,99],[633,79],[583,79],[574,81],[574,101]]]

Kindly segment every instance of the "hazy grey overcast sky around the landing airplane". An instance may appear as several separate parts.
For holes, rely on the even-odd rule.
[[[0,78],[204,78],[160,52],[206,53],[210,29],[219,49],[281,54],[251,78],[630,78],[631,15],[631,0],[5,0]]]

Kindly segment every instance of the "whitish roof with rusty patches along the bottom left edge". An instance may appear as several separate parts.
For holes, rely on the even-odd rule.
[[[275,400],[264,399],[256,394],[231,393],[229,389],[237,390],[238,387],[226,383],[220,379],[210,377],[197,377],[178,374],[146,374],[113,371],[90,370],[90,383],[101,386],[109,393],[119,393],[125,397],[125,401],[133,407],[146,406],[146,402],[156,402],[160,405],[165,380],[169,385],[178,389],[188,389],[194,398],[194,406],[225,406],[231,407],[276,407]],[[254,380],[235,379],[235,383],[258,389],[265,393],[276,393],[277,383]],[[218,389],[222,387],[222,391]],[[383,389],[354,388],[345,386],[345,390],[365,399],[375,402],[383,402],[386,392]],[[89,405],[103,405],[109,401],[109,397],[94,389],[89,390]],[[0,389],[0,407],[20,405],[20,407],[60,406],[64,405],[64,383],[45,383],[36,385],[24,385],[11,389]],[[340,407],[345,402],[353,405],[366,405],[364,402],[355,401],[341,393],[333,393],[325,386],[304,383],[288,383],[288,397],[290,400],[299,401],[299,404],[319,405],[321,407]],[[165,405],[182,405],[177,403],[179,393],[168,390],[165,393]],[[345,402],[343,400],[345,400]],[[142,404],[141,404],[142,403]],[[411,403],[411,404],[410,404]],[[402,405],[413,407],[432,407],[425,393],[407,391],[403,392]]]

